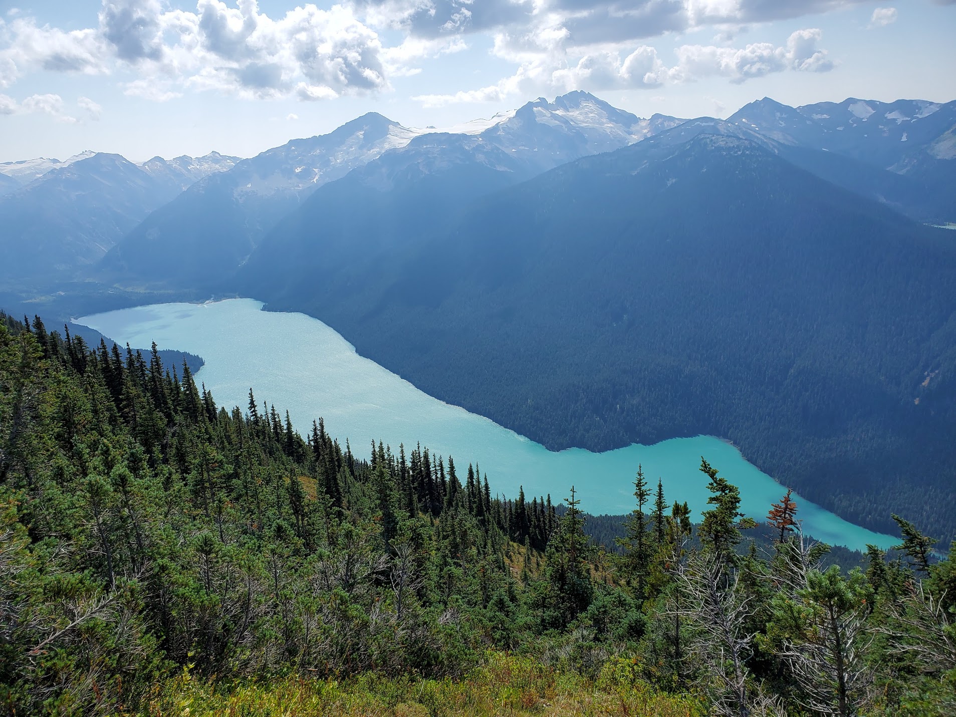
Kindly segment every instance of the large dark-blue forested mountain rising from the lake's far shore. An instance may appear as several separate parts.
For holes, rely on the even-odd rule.
[[[289,223],[241,290],[549,447],[719,435],[854,522],[952,535],[956,236],[677,131],[411,243]]]

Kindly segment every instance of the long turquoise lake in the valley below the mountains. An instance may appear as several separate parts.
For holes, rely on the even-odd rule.
[[[696,513],[706,510],[706,476],[701,456],[740,488],[742,509],[761,520],[784,489],[751,466],[733,445],[712,436],[676,438],[656,445],[629,445],[604,453],[581,448],[560,452],[520,436],[464,408],[432,398],[372,360],[321,321],[303,314],[262,311],[253,299],[205,304],[155,304],[75,319],[120,343],[197,354],[206,365],[196,380],[206,384],[220,404],[257,402],[288,409],[305,435],[319,416],[326,429],[353,453],[368,457],[374,439],[397,453],[420,442],[455,460],[464,476],[468,463],[487,473],[492,492],[516,496],[524,486],[529,499],[551,493],[557,502],[576,487],[585,511],[633,510],[632,481],[638,464],[668,502],[687,501]],[[897,539],[860,528],[809,501],[795,498],[803,530],[818,540],[865,549],[887,548]]]

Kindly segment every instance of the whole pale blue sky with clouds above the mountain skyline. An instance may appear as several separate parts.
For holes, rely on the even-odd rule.
[[[956,0],[0,0],[0,161],[248,157],[365,112],[956,98]]]

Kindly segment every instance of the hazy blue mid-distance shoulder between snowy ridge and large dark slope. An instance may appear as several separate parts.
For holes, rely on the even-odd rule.
[[[223,287],[258,296],[296,267],[288,273],[293,283],[312,285],[321,277],[342,291],[361,292],[360,277],[380,268],[383,257],[414,251],[443,235],[477,198],[540,171],[537,158],[481,137],[419,138],[316,191],[273,228]]]

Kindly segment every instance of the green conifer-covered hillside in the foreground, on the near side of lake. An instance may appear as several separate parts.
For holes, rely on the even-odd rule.
[[[637,467],[605,554],[572,487],[558,514],[426,447],[359,460],[39,318],[0,313],[0,387],[9,714],[951,713],[956,551],[902,518],[901,559],[842,575],[789,492],[761,554],[706,460],[696,528]]]

